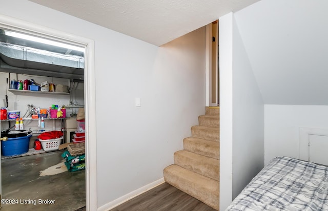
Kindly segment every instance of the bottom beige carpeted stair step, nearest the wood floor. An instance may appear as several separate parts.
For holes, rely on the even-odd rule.
[[[174,166],[173,166],[174,167]],[[177,172],[168,166],[163,171],[165,181],[203,203],[219,210],[219,182],[203,176],[193,176],[188,170]]]

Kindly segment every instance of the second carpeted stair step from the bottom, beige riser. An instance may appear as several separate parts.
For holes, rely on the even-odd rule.
[[[189,171],[219,181],[219,160],[203,156],[205,159],[195,159],[179,152],[174,153],[174,163]]]

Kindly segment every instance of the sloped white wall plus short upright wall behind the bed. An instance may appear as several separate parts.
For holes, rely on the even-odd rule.
[[[279,155],[299,157],[300,127],[327,128],[327,6],[261,0],[235,13],[265,103],[264,164]]]

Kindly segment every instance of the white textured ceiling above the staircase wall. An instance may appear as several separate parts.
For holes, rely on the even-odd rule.
[[[29,0],[160,46],[259,0]]]

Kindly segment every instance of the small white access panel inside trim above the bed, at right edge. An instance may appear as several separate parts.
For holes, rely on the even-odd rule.
[[[309,135],[309,159],[314,163],[328,165],[328,136]]]

